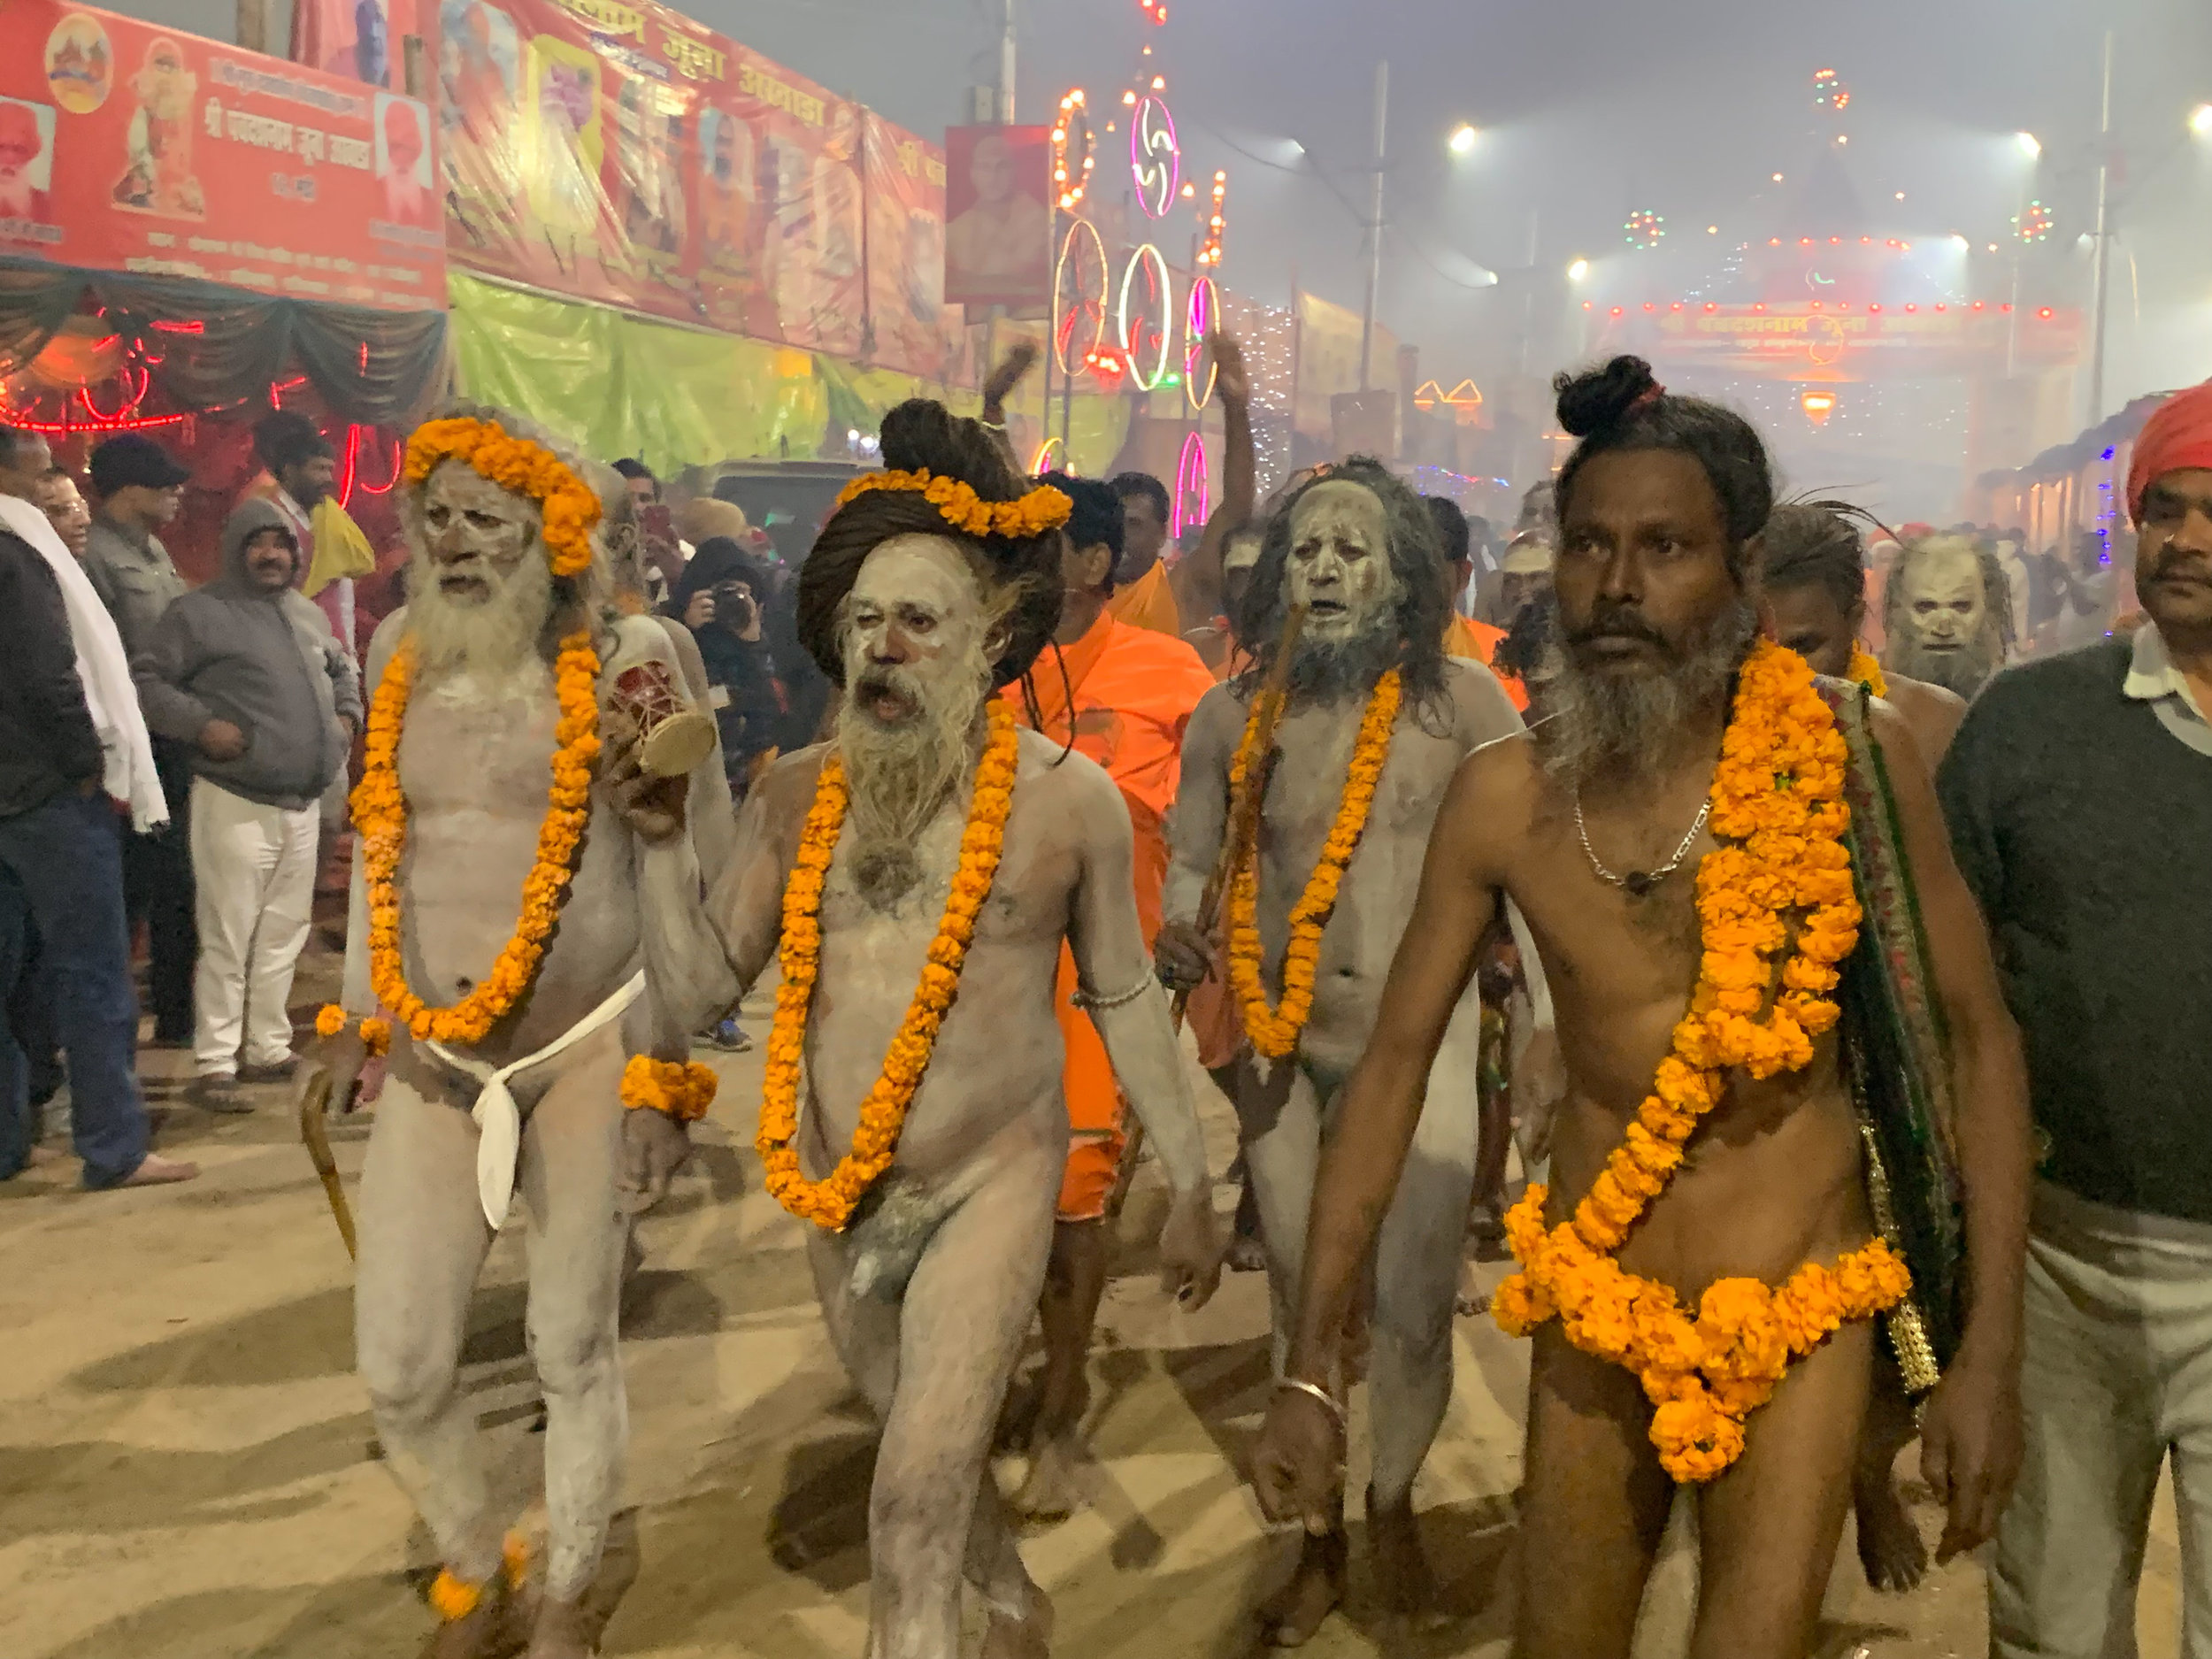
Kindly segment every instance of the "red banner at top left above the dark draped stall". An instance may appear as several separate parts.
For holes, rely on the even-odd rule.
[[[445,310],[429,111],[111,11],[0,7],[0,252]]]

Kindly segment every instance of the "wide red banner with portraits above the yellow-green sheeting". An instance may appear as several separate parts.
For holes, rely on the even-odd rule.
[[[659,4],[445,0],[458,261],[858,354],[863,111]]]

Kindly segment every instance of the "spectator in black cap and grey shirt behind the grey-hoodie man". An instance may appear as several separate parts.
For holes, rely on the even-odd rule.
[[[184,577],[161,546],[159,531],[177,520],[184,484],[192,476],[142,431],[124,431],[93,449],[93,529],[84,544],[84,575],[115,619],[124,653],[135,664],[153,644],[153,628]],[[192,922],[190,750],[153,734],[153,763],[168,803],[168,825],[133,834],[124,845],[124,905],[131,929],[146,922],[146,995],[153,1002],[153,1040],[159,1048],[192,1042],[192,962],[199,933]]]

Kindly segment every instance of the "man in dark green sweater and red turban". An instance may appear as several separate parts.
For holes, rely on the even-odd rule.
[[[2143,626],[1993,679],[1940,779],[2042,1150],[1997,1659],[2135,1650],[2168,1449],[2212,1641],[2212,383],[2143,427],[2128,511]]]

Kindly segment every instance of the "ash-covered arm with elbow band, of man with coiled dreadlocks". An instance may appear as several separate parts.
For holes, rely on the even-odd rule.
[[[1075,889],[1068,949],[1075,980],[1095,998],[1097,1026],[1115,1077],[1159,1148],[1161,1168],[1177,1192],[1206,1186],[1206,1137],[1190,1097],[1183,1051],[1168,1018],[1168,993],[1152,978],[1137,920],[1137,838],[1128,807],[1113,781],[1082,754],[1068,757],[1062,783],[1071,790],[1068,818],[1084,825],[1084,867]]]

